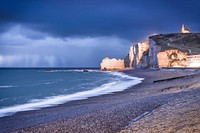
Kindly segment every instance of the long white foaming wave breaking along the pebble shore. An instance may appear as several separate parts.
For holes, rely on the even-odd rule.
[[[83,100],[83,99],[87,99],[93,96],[99,96],[103,94],[111,94],[114,92],[123,91],[129,88],[130,86],[141,83],[143,80],[142,78],[130,77],[119,72],[113,72],[110,74],[119,76],[121,78],[126,78],[129,80],[112,81],[112,82],[103,84],[99,87],[96,87],[94,89],[87,90],[87,91],[77,92],[77,93],[69,94],[69,95],[51,96],[51,97],[46,97],[44,99],[33,99],[31,100],[30,103],[11,106],[11,107],[5,107],[5,108],[0,109],[0,117],[9,116],[20,111],[38,110],[44,107],[50,107],[50,106],[63,104],[68,101]]]

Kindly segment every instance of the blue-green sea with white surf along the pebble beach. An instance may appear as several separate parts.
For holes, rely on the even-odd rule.
[[[94,68],[0,68],[0,117],[123,91],[142,80]]]

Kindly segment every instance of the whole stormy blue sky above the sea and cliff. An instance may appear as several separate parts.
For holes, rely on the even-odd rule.
[[[200,31],[199,0],[0,0],[0,67],[99,67],[152,34]]]

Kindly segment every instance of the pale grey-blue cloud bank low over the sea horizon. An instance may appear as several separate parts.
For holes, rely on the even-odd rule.
[[[98,67],[105,56],[123,58],[131,42],[115,36],[59,38],[15,26],[0,34],[0,44],[0,67]]]

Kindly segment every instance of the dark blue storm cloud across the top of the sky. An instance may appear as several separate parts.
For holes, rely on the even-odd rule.
[[[181,23],[198,28],[195,24],[200,21],[199,3],[198,0],[3,0],[0,21],[29,24],[59,36],[118,35],[134,39],[153,32],[177,31]]]

